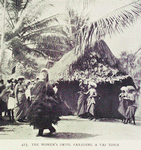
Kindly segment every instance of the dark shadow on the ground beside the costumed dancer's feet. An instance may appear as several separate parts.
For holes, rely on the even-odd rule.
[[[55,139],[82,139],[100,136],[98,134],[87,134],[87,133],[71,133],[71,132],[58,132],[54,134],[44,134],[43,137],[55,138]]]

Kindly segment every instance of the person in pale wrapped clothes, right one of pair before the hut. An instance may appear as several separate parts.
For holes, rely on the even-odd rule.
[[[87,113],[90,119],[95,118],[95,104],[96,104],[95,98],[97,97],[96,87],[97,85],[95,83],[90,82],[88,86],[88,91],[85,93],[85,94],[88,94]]]

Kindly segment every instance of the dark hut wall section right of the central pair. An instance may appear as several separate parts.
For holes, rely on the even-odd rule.
[[[114,84],[110,82],[102,82],[97,86],[97,92],[101,99],[96,104],[97,118],[121,118],[118,112],[120,88],[122,86],[134,86],[131,77],[124,78],[121,81],[115,81]]]

